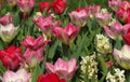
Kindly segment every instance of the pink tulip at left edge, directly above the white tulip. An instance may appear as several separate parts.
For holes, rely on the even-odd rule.
[[[0,17],[0,24],[2,25],[11,24],[12,20],[13,20],[13,15],[10,15],[10,14]]]

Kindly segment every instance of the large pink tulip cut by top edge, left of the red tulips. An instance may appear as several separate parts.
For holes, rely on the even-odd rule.
[[[16,0],[20,10],[24,13],[28,13],[35,5],[36,0]]]

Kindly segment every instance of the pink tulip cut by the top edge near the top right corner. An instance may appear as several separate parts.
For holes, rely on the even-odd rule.
[[[117,11],[121,4],[121,0],[108,0],[108,6],[113,11]]]

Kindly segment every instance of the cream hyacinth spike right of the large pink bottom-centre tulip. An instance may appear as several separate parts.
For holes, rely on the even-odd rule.
[[[84,77],[84,74],[88,72],[88,77],[90,80],[93,78],[93,76],[96,79],[98,78],[98,63],[95,62],[95,58],[96,58],[95,54],[91,56],[81,57],[81,58],[82,58],[80,63],[81,72],[82,72],[81,77]],[[84,81],[81,81],[81,82],[84,82]]]

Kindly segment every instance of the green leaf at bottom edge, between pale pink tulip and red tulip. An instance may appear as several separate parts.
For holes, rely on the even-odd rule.
[[[39,67],[39,65],[35,68],[35,71],[32,73],[32,80],[31,82],[37,82],[38,77],[42,73],[41,68]]]

